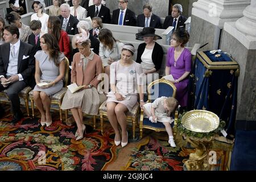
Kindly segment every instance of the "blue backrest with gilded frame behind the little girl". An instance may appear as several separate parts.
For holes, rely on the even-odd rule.
[[[176,86],[164,78],[155,80],[147,86],[148,101],[154,102],[156,98],[165,97],[175,97],[176,96]]]

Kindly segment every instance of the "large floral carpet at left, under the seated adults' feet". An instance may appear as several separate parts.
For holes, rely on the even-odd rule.
[[[85,138],[76,141],[76,127],[57,117],[49,127],[41,126],[39,118],[24,118],[18,123],[11,123],[10,118],[7,114],[0,119],[0,171],[99,171],[115,155],[110,129],[102,135],[86,125]]]

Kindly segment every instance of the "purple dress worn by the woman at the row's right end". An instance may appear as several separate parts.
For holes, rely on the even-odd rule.
[[[171,67],[170,74],[174,77],[174,79],[178,79],[185,72],[191,71],[191,52],[184,48],[183,52],[181,52],[180,57],[177,59],[176,63],[174,61],[174,47],[170,47],[167,52],[167,60],[166,66]],[[179,83],[175,84],[177,88],[176,99],[179,101],[181,107],[187,106],[188,102],[188,77]]]

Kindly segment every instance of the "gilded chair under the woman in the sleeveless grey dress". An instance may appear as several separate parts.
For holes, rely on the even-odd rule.
[[[67,85],[68,85],[68,69],[69,69],[69,60],[67,57],[65,57],[65,76],[63,79],[63,88],[53,94],[51,98],[51,109],[52,110],[59,110],[60,113],[60,121],[62,121],[62,110],[60,109],[63,97],[67,91]],[[32,107],[32,117],[35,117],[35,111],[34,111],[34,97],[33,97],[33,90],[30,91],[30,101],[31,101],[31,107]],[[52,107],[52,105],[57,105],[57,107]]]

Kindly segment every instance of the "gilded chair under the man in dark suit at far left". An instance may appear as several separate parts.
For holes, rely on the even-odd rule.
[[[28,97],[29,97],[29,93],[30,93],[31,90],[32,90],[32,88],[30,86],[26,86],[24,89],[22,89],[19,92],[19,97],[23,98],[23,100],[24,100],[28,117],[30,116],[30,108],[28,106]],[[6,94],[6,90],[3,90],[2,92],[0,92],[0,97],[7,98],[7,100],[1,100],[1,102],[10,102],[9,97]]]

